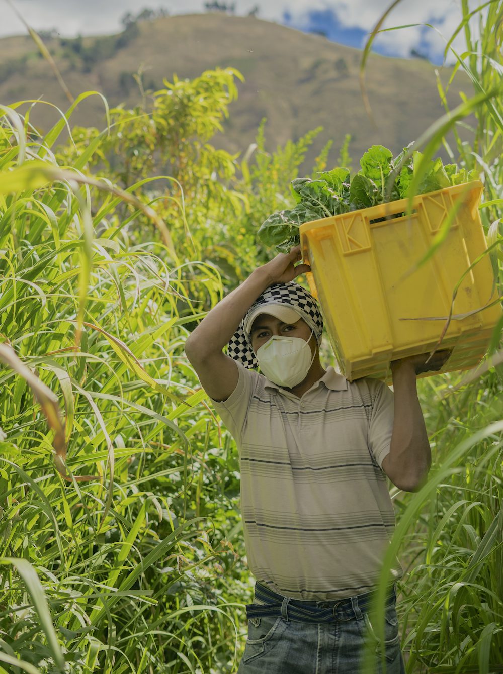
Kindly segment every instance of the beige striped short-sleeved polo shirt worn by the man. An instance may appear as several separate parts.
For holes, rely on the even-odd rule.
[[[392,392],[377,379],[350,383],[329,367],[297,398],[237,367],[231,396],[213,402],[239,450],[251,573],[292,599],[374,589],[395,524],[382,471]],[[403,576],[398,560],[393,576]]]

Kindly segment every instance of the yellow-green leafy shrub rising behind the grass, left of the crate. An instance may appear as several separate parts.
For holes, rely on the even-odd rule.
[[[142,86],[141,76],[136,79]],[[123,187],[157,176],[149,181],[146,195],[155,200],[177,250],[189,264],[212,260],[233,282],[243,275],[237,223],[247,208],[247,195],[236,189],[236,157],[216,150],[210,139],[223,131],[240,79],[234,69],[216,69],[194,80],[165,81],[162,89],[144,92],[136,108],[112,109],[105,131],[73,129],[73,143],[58,152],[61,162],[72,165],[95,146],[84,171],[100,168]],[[123,206],[117,208],[126,216]],[[141,228],[143,237],[152,232],[148,218],[142,218]],[[191,273],[187,266],[184,274]]]

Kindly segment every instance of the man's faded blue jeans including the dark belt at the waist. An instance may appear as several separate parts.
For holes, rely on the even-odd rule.
[[[256,588],[254,603],[247,607],[251,617],[238,674],[364,674],[366,648],[372,652],[373,663],[365,674],[405,674],[394,586],[384,612],[384,642],[376,638],[365,610],[369,593],[343,601],[307,602],[266,590],[270,596],[264,601],[263,592],[257,599],[260,588]],[[267,613],[280,615],[264,615]]]

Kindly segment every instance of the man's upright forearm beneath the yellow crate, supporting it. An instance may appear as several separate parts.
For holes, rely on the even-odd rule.
[[[388,476],[405,491],[417,491],[427,478],[432,464],[430,443],[417,397],[416,374],[410,363],[392,368],[394,422]]]

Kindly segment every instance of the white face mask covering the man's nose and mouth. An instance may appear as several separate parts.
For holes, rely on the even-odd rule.
[[[311,333],[311,337],[313,333]],[[309,342],[300,337],[272,336],[257,349],[258,367],[264,376],[278,386],[293,388],[307,377],[314,363]]]

